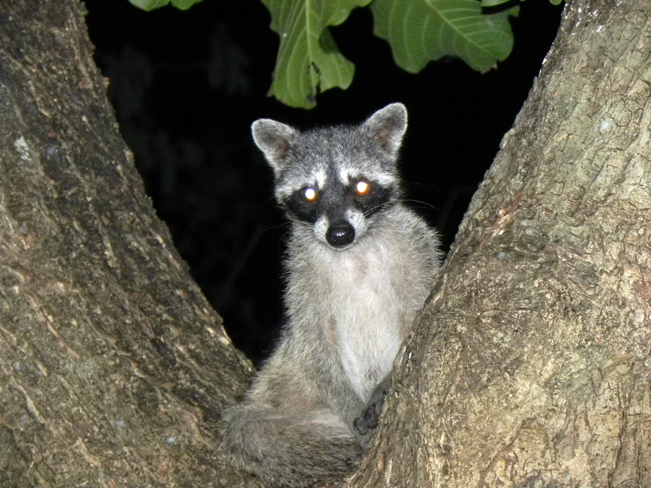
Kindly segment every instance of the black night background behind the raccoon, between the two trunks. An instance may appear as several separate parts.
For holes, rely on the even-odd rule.
[[[357,123],[403,102],[402,171],[409,197],[449,246],[465,208],[540,70],[562,7],[521,3],[511,56],[488,74],[432,62],[408,74],[372,34],[368,8],[332,28],[355,63],[348,90],[311,111],[266,96],[278,36],[259,0],[203,0],[143,12],[127,0],[85,0],[95,59],[148,194],[236,346],[257,360],[281,320],[283,215],[271,170],[251,141],[256,118],[301,128]]]

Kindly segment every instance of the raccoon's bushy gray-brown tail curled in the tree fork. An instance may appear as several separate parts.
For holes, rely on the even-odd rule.
[[[221,446],[232,463],[282,487],[311,487],[350,471],[361,448],[331,411],[243,403],[223,413]]]

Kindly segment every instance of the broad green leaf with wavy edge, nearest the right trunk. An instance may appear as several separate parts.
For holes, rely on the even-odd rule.
[[[375,0],[370,8],[374,33],[389,42],[396,64],[410,73],[444,56],[486,72],[513,47],[508,16],[518,7],[482,14],[477,0]]]

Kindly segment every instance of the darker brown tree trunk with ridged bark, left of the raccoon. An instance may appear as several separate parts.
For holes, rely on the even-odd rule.
[[[0,485],[238,486],[207,420],[251,366],[144,193],[83,15],[0,7]]]

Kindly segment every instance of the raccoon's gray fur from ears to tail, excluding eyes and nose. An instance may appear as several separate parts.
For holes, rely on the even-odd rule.
[[[354,429],[353,422],[387,383],[430,293],[439,240],[400,200],[396,157],[406,123],[400,103],[356,127],[300,132],[269,119],[253,123],[253,139],[274,170],[275,193],[292,224],[289,319],[245,401],[225,411],[219,429],[234,465],[273,485],[309,487],[350,470],[372,433],[361,435],[366,427]],[[390,201],[373,212],[344,204],[349,180],[361,177],[390,188]],[[313,224],[288,204],[305,186],[323,199],[323,215]],[[324,234],[341,219],[354,238],[329,245]]]

